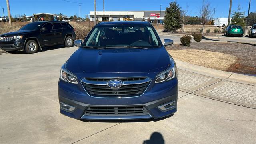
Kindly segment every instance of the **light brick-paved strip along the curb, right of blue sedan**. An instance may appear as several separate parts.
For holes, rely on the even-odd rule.
[[[178,70],[179,90],[240,106],[256,108],[256,86]]]

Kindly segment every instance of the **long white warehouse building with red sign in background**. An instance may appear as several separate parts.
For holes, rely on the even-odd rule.
[[[130,19],[135,21],[141,21],[144,17],[145,20],[148,19],[148,16],[150,17],[150,21],[153,22],[156,19],[156,16],[152,16],[152,14],[160,14],[160,17],[157,18],[159,20],[159,23],[163,23],[165,11],[105,11],[105,20],[110,21],[111,18],[113,18],[114,21],[124,20],[126,16],[130,17]],[[94,21],[94,11],[90,11],[90,20]],[[103,11],[97,11],[96,12],[96,18],[98,18],[99,21],[103,20]]]

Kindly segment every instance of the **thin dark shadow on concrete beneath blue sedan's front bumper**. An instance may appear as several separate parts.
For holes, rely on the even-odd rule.
[[[163,118],[158,118],[158,119],[154,119],[154,118],[150,118],[150,119],[143,119],[143,120],[83,120],[81,119],[80,121],[83,121],[83,122],[108,122],[108,123],[120,123],[120,122],[157,122],[157,121],[160,121],[160,120],[164,120],[166,118],[170,118],[172,117],[174,114],[171,114],[169,116],[165,116]]]

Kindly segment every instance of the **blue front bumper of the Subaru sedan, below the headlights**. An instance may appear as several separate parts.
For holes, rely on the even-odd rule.
[[[152,86],[153,85],[153,86]],[[150,84],[142,96],[128,98],[96,98],[89,96],[84,89],[74,89],[74,84],[63,82],[58,83],[59,102],[73,107],[71,111],[60,107],[60,113],[76,119],[87,120],[134,120],[148,118],[162,118],[177,111],[178,80],[174,78],[163,84]],[[169,106],[172,102],[172,106]],[[163,109],[163,106],[166,109]],[[89,107],[138,107],[143,106],[147,114],[136,115],[87,115]]]

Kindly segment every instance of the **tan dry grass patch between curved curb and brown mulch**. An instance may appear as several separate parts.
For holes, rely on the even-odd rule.
[[[217,70],[228,70],[237,61],[236,56],[206,50],[168,50],[174,59]]]

